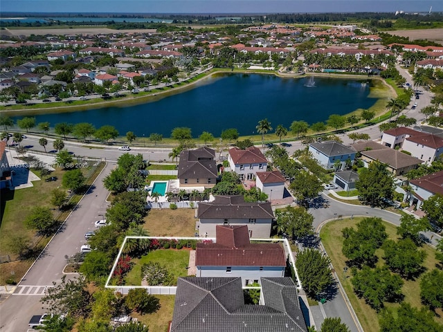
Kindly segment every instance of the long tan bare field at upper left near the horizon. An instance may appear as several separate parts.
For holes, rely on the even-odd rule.
[[[20,36],[24,35],[29,37],[30,35],[108,35],[111,33],[155,33],[156,29],[129,29],[129,30],[115,30],[109,28],[60,28],[60,29],[6,29],[9,35]]]

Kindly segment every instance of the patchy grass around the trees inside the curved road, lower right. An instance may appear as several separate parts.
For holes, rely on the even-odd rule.
[[[341,247],[343,245],[343,237],[341,234],[341,230],[345,227],[354,227],[356,223],[361,221],[363,218],[354,218],[354,219],[343,219],[334,221],[331,223],[327,223],[323,226],[320,237],[323,242],[323,246],[327,251],[327,255],[332,261],[332,265],[334,269],[337,271],[338,278],[341,281],[341,284],[345,288],[347,296],[350,298],[352,306],[354,307],[354,311],[356,312],[361,325],[363,326],[363,330],[365,332],[378,332],[379,331],[379,317],[377,312],[374,311],[368,304],[365,304],[364,299],[359,299],[354,294],[351,284],[351,273],[350,270],[344,275],[343,268],[345,267],[346,258],[341,252]],[[390,239],[397,239],[397,228],[390,223],[383,223],[386,226],[386,232]],[[430,246],[423,246],[423,250],[428,254],[425,261],[424,266],[428,270],[435,268],[435,264],[437,261],[435,259],[435,250]],[[379,262],[377,265],[381,266],[384,261],[381,259],[381,255],[383,255],[383,250],[377,250],[376,254],[379,256]],[[419,282],[420,278],[417,278],[415,281],[405,281],[403,286],[403,293],[405,295],[404,300],[410,303],[412,306],[420,308],[422,304],[420,303],[419,298]],[[385,302],[386,307],[397,309],[399,304],[388,303]],[[443,324],[443,318],[436,317],[435,320],[440,324]]]

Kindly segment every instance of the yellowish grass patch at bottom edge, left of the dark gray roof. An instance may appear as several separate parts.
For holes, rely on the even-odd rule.
[[[174,295],[154,295],[160,299],[160,309],[156,313],[140,315],[132,313],[132,317],[138,318],[140,322],[147,325],[150,331],[165,332],[168,331],[169,322],[174,313]]]

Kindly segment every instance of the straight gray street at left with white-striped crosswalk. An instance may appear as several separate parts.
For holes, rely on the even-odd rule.
[[[108,163],[96,179],[94,187],[83,197],[58,232],[46,247],[43,254],[19,284],[15,293],[0,304],[0,331],[26,331],[32,315],[43,313],[39,299],[48,286],[60,282],[66,265],[65,255],[71,256],[80,251],[86,243],[84,233],[94,230],[94,221],[101,219],[107,208],[108,191],[102,185],[102,179],[115,166]]]

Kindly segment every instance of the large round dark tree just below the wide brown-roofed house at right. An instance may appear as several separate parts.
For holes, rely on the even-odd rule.
[[[394,178],[386,165],[378,160],[361,169],[359,180],[355,183],[359,190],[359,199],[370,205],[381,205],[382,199],[392,199],[394,193]]]

